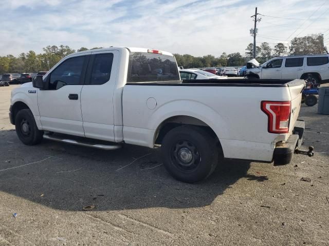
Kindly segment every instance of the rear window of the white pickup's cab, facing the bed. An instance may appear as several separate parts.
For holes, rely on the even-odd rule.
[[[154,53],[130,53],[127,82],[168,80],[180,80],[175,57]]]

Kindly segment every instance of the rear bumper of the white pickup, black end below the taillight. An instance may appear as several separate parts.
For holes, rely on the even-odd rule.
[[[285,142],[280,143],[274,150],[273,160],[275,166],[286,165],[291,162],[296,147],[300,147],[302,144],[304,130],[305,122],[297,120],[293,134]]]

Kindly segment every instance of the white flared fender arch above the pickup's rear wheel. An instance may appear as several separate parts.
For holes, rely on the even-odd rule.
[[[148,129],[157,130],[163,121],[173,116],[190,116],[202,120],[217,135],[218,139],[228,135],[224,118],[211,107],[194,100],[174,100],[158,107],[149,119]]]

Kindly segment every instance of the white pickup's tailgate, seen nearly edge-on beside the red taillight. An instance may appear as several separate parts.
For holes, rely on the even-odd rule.
[[[288,84],[290,96],[291,96],[291,116],[290,116],[290,124],[289,124],[289,132],[293,131],[302,100],[302,91],[305,87],[305,81],[302,79],[295,79]]]

